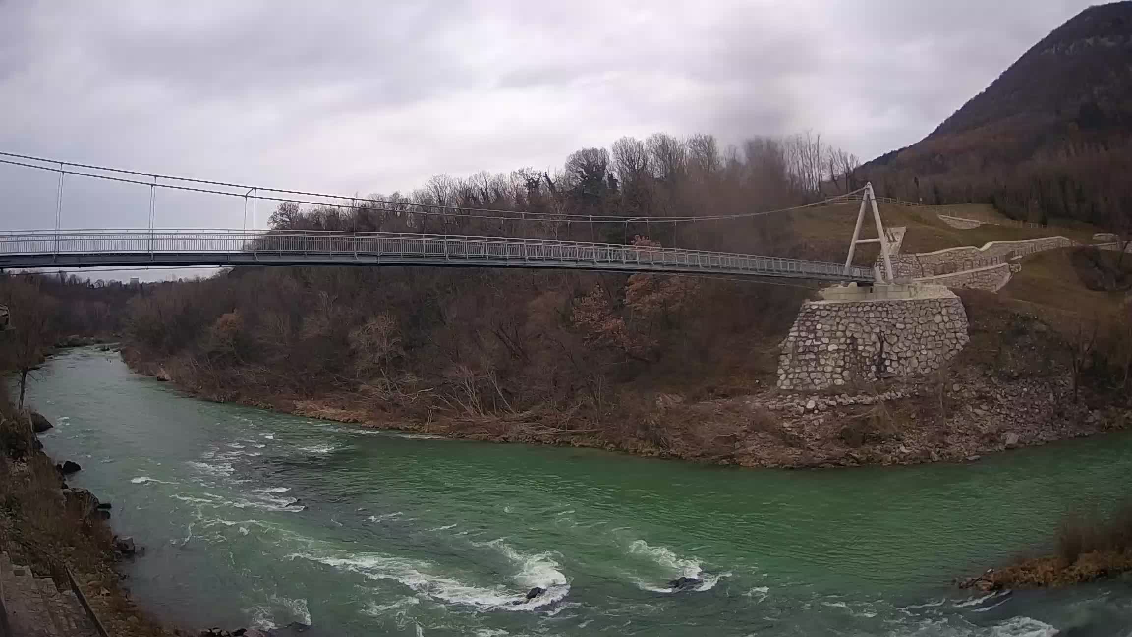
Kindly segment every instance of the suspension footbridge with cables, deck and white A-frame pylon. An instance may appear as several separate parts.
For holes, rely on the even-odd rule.
[[[617,215],[552,214],[525,211],[455,207],[406,202],[389,202],[277,188],[260,188],[223,181],[144,173],[91,164],[74,164],[0,152],[0,164],[57,173],[55,224],[52,229],[28,229],[0,232],[0,267],[93,267],[93,266],[246,266],[246,265],[424,265],[456,267],[526,267],[577,269],[615,272],[669,272],[728,274],[738,277],[808,279],[818,281],[856,281],[872,283],[891,280],[873,267],[851,264],[852,249],[844,263],[783,258],[778,256],[736,254],[652,245],[624,245],[598,241],[572,241],[529,237],[462,236],[429,232],[354,232],[338,230],[286,229],[197,229],[155,228],[158,189],[205,193],[242,197],[245,224],[249,202],[295,203],[337,209],[386,211],[415,219],[439,216],[487,219],[494,221],[539,223],[589,222],[676,223],[704,220],[741,219],[773,212],[695,218],[649,218]],[[66,229],[61,227],[66,179],[76,177],[103,181],[135,184],[149,189],[149,223],[147,228]],[[241,194],[242,192],[242,194]],[[859,239],[866,204],[875,195],[866,186],[861,195],[857,232],[850,247],[858,243],[884,239]],[[818,205],[818,204],[809,204]],[[15,218],[33,214],[15,211]],[[254,224],[258,221],[256,218]],[[592,226],[591,226],[592,227]]]

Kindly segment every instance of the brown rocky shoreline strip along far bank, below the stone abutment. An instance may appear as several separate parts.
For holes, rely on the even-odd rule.
[[[832,468],[969,462],[987,453],[1120,431],[1132,411],[1073,401],[1067,379],[992,379],[957,365],[933,379],[890,381],[855,393],[779,390],[689,401],[658,393],[634,423],[580,426],[560,414],[526,411],[421,422],[361,392],[321,397],[217,397],[169,374],[163,363],[122,349],[135,373],[171,382],[195,398],[365,427],[480,442],[603,449],[643,457],[765,468]],[[633,435],[612,439],[610,431]]]

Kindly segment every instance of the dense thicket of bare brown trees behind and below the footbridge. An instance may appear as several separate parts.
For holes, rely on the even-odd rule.
[[[277,229],[558,237],[798,255],[788,218],[589,223],[589,215],[755,212],[851,187],[854,158],[820,136],[653,135],[584,148],[555,175],[431,178],[354,206],[282,204]],[[392,202],[392,203],[391,203]],[[435,206],[453,206],[441,211]],[[477,209],[522,210],[483,219]],[[443,214],[441,214],[443,212]],[[530,221],[538,216],[539,221]],[[567,218],[566,215],[584,215]],[[764,341],[807,289],[702,278],[552,271],[241,269],[148,284],[127,334],[142,360],[221,399],[360,391],[421,417],[554,410],[607,418],[649,392],[753,387]],[[564,416],[565,417],[565,416]]]

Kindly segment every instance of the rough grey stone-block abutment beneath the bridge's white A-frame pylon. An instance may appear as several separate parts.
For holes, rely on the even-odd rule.
[[[806,301],[782,341],[778,387],[813,391],[940,368],[970,340],[962,301],[941,290],[909,300]]]

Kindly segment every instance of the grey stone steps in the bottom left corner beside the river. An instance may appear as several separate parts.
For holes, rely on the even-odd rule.
[[[75,594],[0,553],[0,591],[12,637],[97,637]]]

